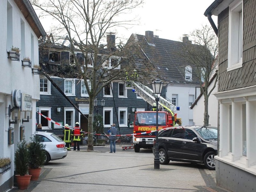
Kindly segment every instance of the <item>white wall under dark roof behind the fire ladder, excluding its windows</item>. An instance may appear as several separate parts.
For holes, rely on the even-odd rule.
[[[177,106],[180,107],[180,110],[176,110],[177,117],[181,118],[182,125],[189,125],[189,119],[193,120],[193,110],[188,106],[188,98],[189,95],[194,95],[195,101],[200,94],[200,88],[193,85],[169,84],[166,89],[166,97],[172,100],[172,94],[178,95]]]

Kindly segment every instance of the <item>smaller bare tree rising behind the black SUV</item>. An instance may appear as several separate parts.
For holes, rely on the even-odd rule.
[[[186,38],[186,37],[185,37]],[[209,125],[208,99],[217,83],[217,36],[211,27],[205,25],[191,32],[186,44],[182,47],[182,57],[187,66],[182,66],[185,74],[192,73],[193,82],[199,82],[204,95],[204,126]],[[215,75],[215,76],[214,76]],[[214,85],[209,90],[210,82],[215,77]]]

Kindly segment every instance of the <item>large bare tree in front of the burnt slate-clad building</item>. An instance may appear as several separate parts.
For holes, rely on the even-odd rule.
[[[124,49],[122,42],[116,46],[111,40],[115,37],[110,32],[132,24],[133,19],[125,20],[127,17],[121,15],[141,5],[142,0],[34,0],[32,4],[42,11],[41,17],[50,16],[58,21],[59,25],[52,27],[51,31],[54,43],[63,45],[63,40],[68,43],[66,49],[73,54],[76,76],[84,80],[90,100],[88,132],[92,133],[94,99],[104,86],[116,79],[125,80],[126,72],[136,67],[132,61],[138,46],[131,44],[131,48],[127,45]],[[104,44],[106,37],[110,38],[110,44]],[[78,51],[84,62],[76,54]],[[120,67],[121,62],[125,63],[124,67]],[[138,70],[137,73],[142,75],[145,71]],[[88,135],[88,150],[93,150],[92,134]]]

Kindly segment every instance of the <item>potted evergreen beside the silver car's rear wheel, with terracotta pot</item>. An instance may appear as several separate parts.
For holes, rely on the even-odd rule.
[[[45,161],[45,145],[36,140],[36,134],[28,143],[28,173],[32,175],[31,180],[38,180],[41,167]]]

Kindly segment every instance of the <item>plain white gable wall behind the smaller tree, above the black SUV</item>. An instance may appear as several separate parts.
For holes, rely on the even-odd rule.
[[[210,84],[209,89],[211,90],[214,85],[214,82]],[[218,91],[218,86],[216,84],[212,94],[208,100],[208,114],[209,114],[209,124],[218,127],[218,100],[213,95]],[[193,107],[193,117],[195,125],[204,125],[204,95],[200,97],[196,105]]]

